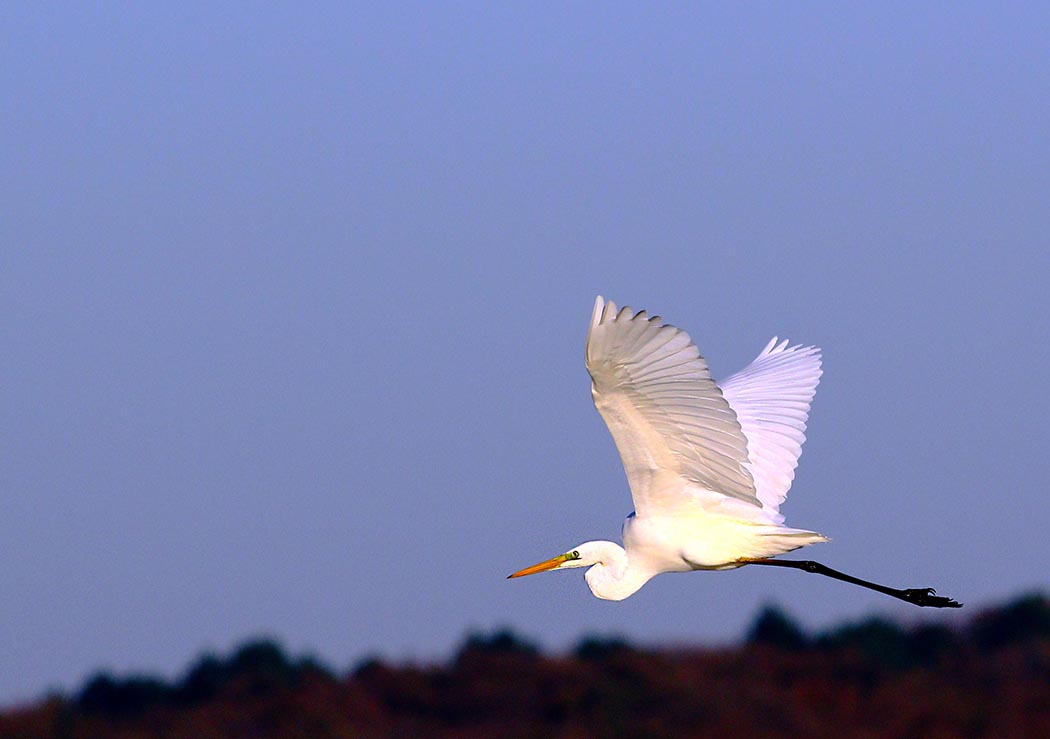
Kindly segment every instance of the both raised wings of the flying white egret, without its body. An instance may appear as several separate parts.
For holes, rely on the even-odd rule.
[[[783,521],[821,371],[820,350],[776,341],[719,388],[686,332],[597,297],[591,394],[638,514],[732,498],[751,504],[737,510],[756,522]]]

